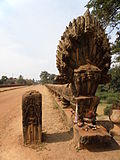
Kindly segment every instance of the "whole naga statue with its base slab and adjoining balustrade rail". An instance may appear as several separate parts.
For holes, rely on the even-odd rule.
[[[72,117],[74,143],[78,147],[111,141],[106,129],[96,124],[99,98],[95,96],[98,85],[110,80],[107,74],[110,63],[107,35],[87,10],[66,27],[57,47],[56,64],[60,73],[57,85],[48,85],[52,92],[76,104]]]

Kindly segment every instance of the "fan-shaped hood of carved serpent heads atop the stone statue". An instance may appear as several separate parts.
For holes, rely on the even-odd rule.
[[[66,82],[73,81],[74,70],[91,64],[101,71],[99,84],[109,80],[110,44],[100,23],[89,10],[66,27],[57,47],[56,64]]]

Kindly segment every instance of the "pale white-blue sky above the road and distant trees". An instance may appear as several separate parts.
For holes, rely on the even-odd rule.
[[[0,77],[58,74],[56,48],[88,0],[0,0]]]

